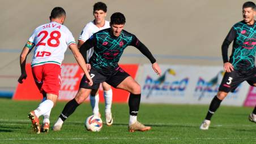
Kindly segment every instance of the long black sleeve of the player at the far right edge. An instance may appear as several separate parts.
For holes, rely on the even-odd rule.
[[[234,29],[234,27],[232,27],[231,30],[229,30],[229,33],[221,46],[223,63],[228,62],[228,47],[235,38],[236,38],[236,30]]]

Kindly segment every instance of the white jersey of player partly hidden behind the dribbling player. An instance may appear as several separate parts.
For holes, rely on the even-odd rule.
[[[91,21],[88,24],[86,24],[86,26],[83,28],[78,40],[85,42],[92,36],[93,33],[99,32],[100,30],[103,30],[106,28],[110,28],[109,21],[105,20],[105,24],[101,28],[97,27],[94,24],[94,21]],[[93,49],[87,50],[87,62],[89,62],[89,59],[91,58],[92,54],[93,54]]]

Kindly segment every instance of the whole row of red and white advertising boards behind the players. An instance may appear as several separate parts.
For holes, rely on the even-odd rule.
[[[219,66],[160,65],[161,77],[153,72],[151,64],[121,64],[142,88],[142,103],[209,104],[216,95],[224,75]],[[18,84],[13,99],[40,100],[42,95],[36,88],[30,64],[26,65],[28,77]],[[69,101],[75,97],[83,76],[78,64],[62,64],[62,86],[59,101]],[[104,102],[100,87],[100,102]],[[234,93],[229,93],[224,105],[255,106],[256,89],[243,82]],[[127,102],[129,93],[113,88],[113,102]],[[88,99],[86,100],[88,101]]]

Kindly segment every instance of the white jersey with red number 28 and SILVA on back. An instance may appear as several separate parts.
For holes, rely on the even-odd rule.
[[[67,47],[76,44],[70,30],[54,21],[37,27],[28,41],[35,45],[32,67],[45,63],[61,65]]]

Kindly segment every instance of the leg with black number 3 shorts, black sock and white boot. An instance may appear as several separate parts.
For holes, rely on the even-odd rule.
[[[242,81],[244,81],[244,78],[243,76],[240,76],[237,71],[225,73],[223,80],[221,81],[219,91],[217,95],[215,95],[215,97],[212,99],[207,115],[203,123],[200,125],[200,129],[207,130],[209,128],[211,118],[217,111],[217,108],[219,108],[220,103],[225,97],[227,97],[229,91],[237,88],[237,86],[241,84]]]

